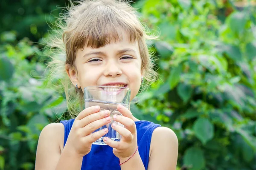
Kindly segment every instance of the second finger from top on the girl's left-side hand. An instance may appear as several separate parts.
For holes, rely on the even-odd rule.
[[[109,115],[110,115],[110,111],[108,110],[90,114],[79,121],[80,127],[85,127],[89,123],[108,117]]]

